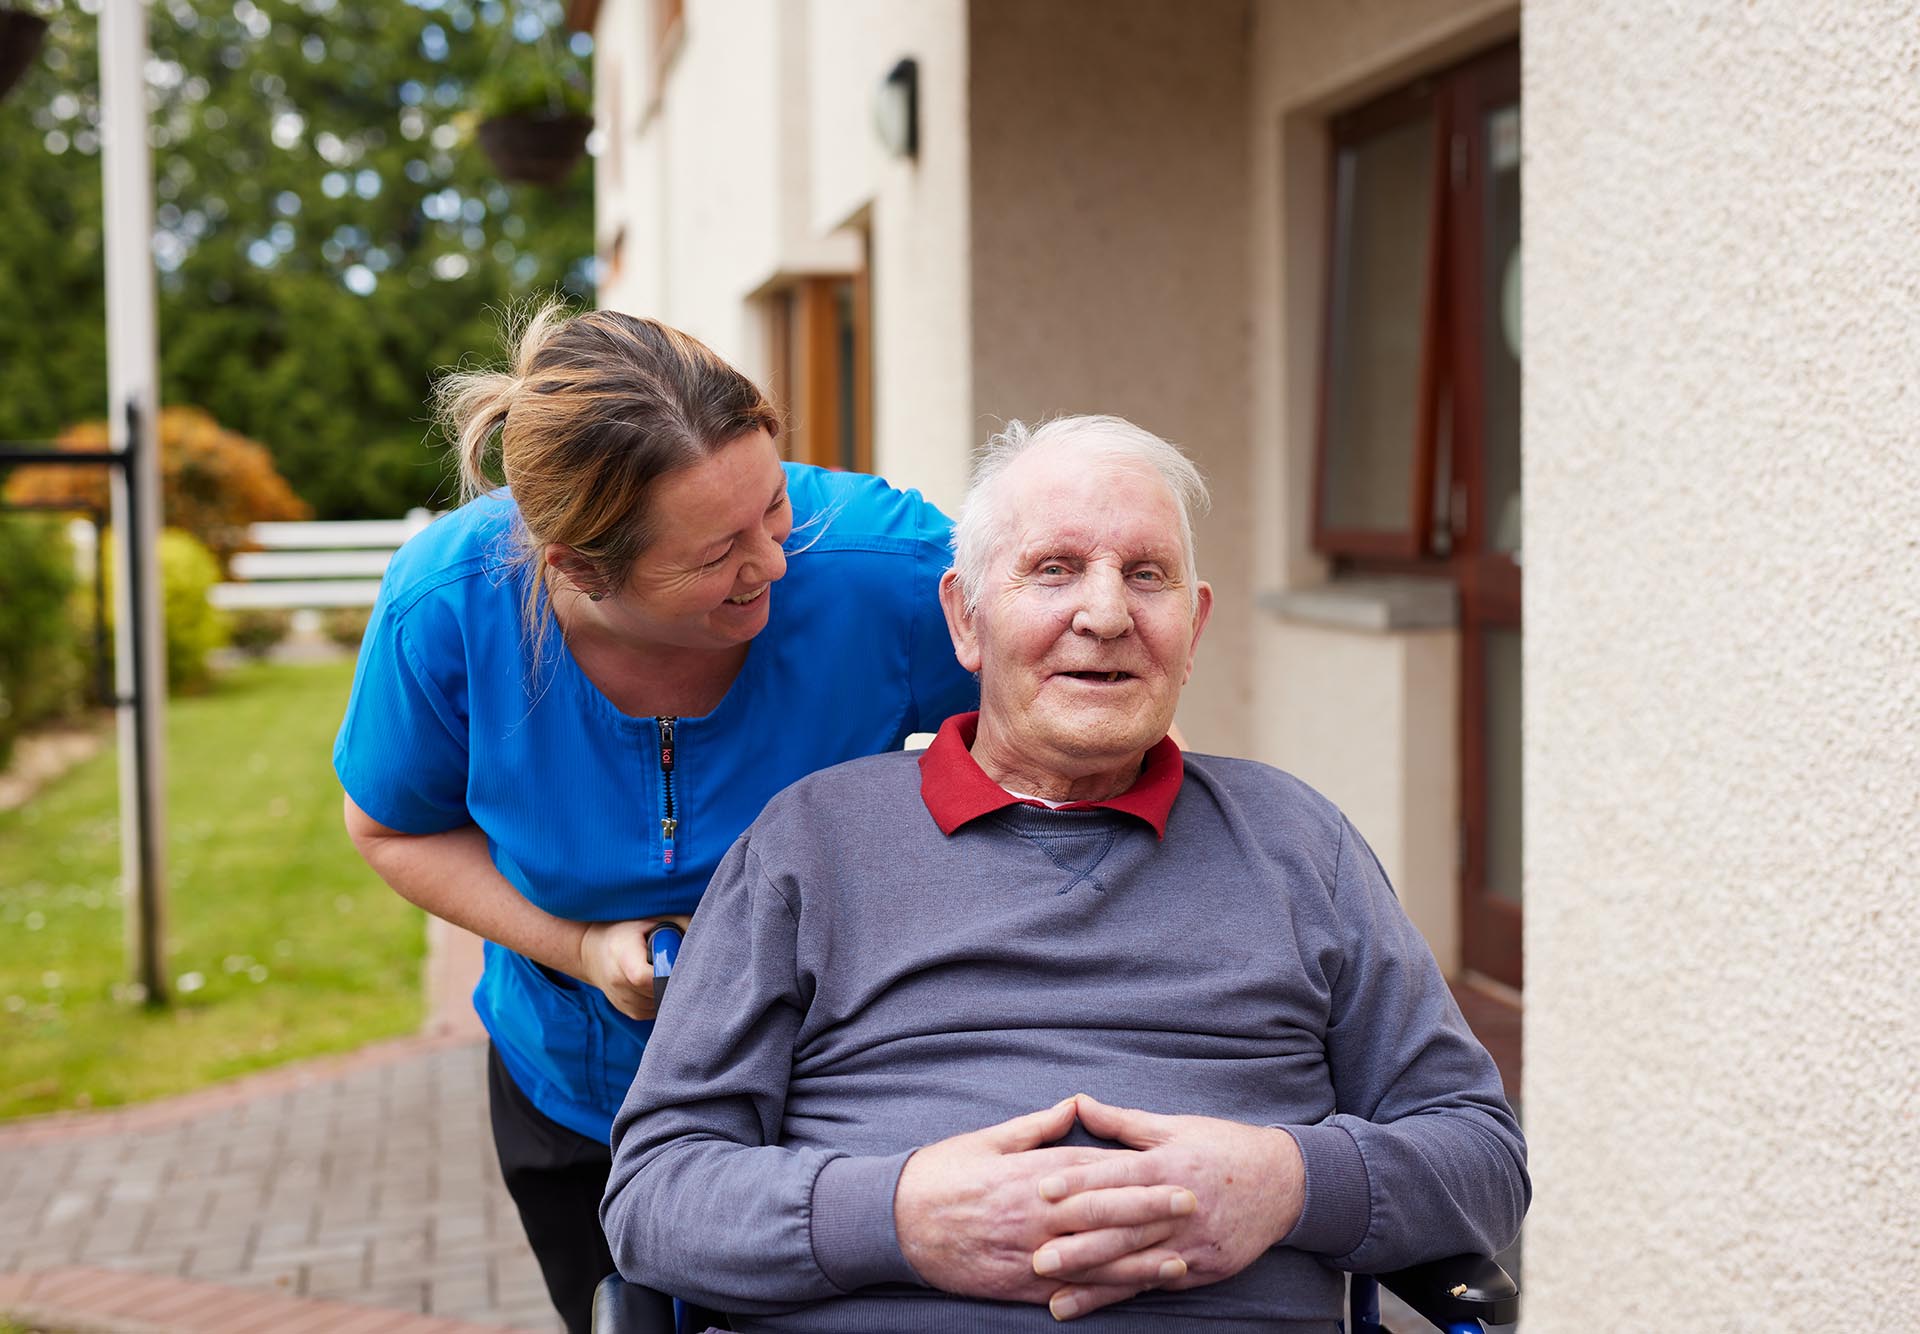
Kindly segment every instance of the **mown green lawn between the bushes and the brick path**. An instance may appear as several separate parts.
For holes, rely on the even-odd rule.
[[[0,1117],[104,1108],[419,1029],[420,912],[340,827],[351,662],[167,708],[167,975],[131,994],[111,747],[0,812]]]

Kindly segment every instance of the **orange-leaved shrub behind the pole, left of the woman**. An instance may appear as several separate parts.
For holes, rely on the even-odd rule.
[[[111,440],[106,422],[81,422],[63,430],[58,443],[61,449],[106,449]],[[6,499],[106,514],[108,470],[19,468],[6,486]],[[167,526],[198,537],[221,572],[246,545],[248,524],[311,516],[265,445],[227,430],[198,407],[159,413],[159,505]]]

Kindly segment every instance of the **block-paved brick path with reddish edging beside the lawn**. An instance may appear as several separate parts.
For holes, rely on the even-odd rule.
[[[486,1046],[465,1036],[0,1127],[6,1309],[194,1334],[559,1328],[493,1159]]]

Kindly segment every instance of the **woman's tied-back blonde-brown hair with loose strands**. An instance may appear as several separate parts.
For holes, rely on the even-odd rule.
[[[653,482],[751,432],[778,436],[780,415],[753,380],[659,321],[568,315],[547,299],[509,313],[505,344],[507,369],[436,380],[434,417],[457,447],[463,499],[513,488],[513,560],[538,670],[551,620],[541,551],[572,547],[601,587],[622,587],[659,536]]]

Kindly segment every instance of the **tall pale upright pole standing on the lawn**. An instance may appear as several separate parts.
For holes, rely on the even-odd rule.
[[[146,4],[100,10],[100,169],[108,251],[108,420],[127,457],[113,470],[113,685],[119,714],[121,875],[127,956],[148,1004],[167,1000],[163,727],[167,706],[159,559],[159,338],[154,296],[154,165],[146,144]]]

